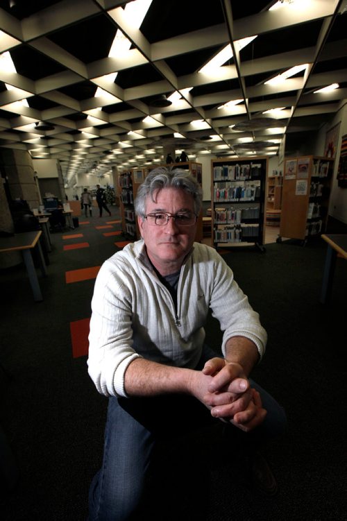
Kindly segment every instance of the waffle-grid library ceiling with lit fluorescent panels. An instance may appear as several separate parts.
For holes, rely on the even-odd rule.
[[[59,160],[66,186],[167,151],[290,153],[346,102],[346,9],[0,0],[0,147]]]

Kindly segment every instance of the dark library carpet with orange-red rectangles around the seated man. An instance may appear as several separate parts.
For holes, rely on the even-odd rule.
[[[90,302],[99,266],[127,244],[105,236],[121,229],[112,218],[81,221],[74,232],[52,234],[48,276],[40,279],[43,302],[33,303],[22,265],[0,271],[0,418],[19,479],[10,493],[0,489],[4,521],[85,521],[90,482],[100,468],[108,400],[97,393],[87,373]],[[85,222],[85,224],[83,224]],[[334,233],[335,230],[329,230]],[[83,237],[63,239],[63,235]],[[89,248],[64,250],[87,242]],[[269,334],[266,355],[254,379],[284,405],[287,434],[266,449],[276,475],[276,497],[253,493],[239,479],[232,450],[221,452],[214,434],[193,442],[208,471],[207,490],[194,483],[172,500],[189,497],[203,514],[184,521],[345,520],[346,367],[341,341],[346,322],[346,262],[337,259],[332,300],[319,304],[325,262],[320,238],[305,247],[295,241],[257,248],[228,248],[223,259],[260,312]],[[221,330],[212,316],[206,341],[217,352]],[[178,462],[179,463],[179,462]],[[163,461],[167,466],[168,462]],[[171,469],[171,467],[169,467]],[[167,470],[167,469],[166,469]],[[180,483],[178,475],[177,483]],[[169,520],[171,503],[162,519]]]

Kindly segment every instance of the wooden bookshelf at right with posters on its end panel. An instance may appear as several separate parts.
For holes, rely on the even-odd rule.
[[[305,155],[285,157],[280,235],[306,243],[325,232],[334,160]]]

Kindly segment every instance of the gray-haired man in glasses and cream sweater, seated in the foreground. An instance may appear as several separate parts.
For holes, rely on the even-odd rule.
[[[135,515],[154,450],[172,432],[223,422],[237,438],[285,422],[248,379],[266,344],[259,315],[216,250],[194,243],[201,204],[187,171],[153,170],[135,200],[142,240],[96,278],[88,370],[110,398],[90,521]],[[210,309],[223,330],[223,358],[204,344]]]

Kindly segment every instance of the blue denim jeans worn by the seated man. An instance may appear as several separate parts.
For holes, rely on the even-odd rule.
[[[197,368],[202,368],[205,361],[216,356],[206,347]],[[263,407],[267,410],[262,425],[251,433],[253,440],[282,434],[286,423],[282,407],[252,380],[251,386],[260,392]],[[171,447],[188,433],[215,423],[221,425],[201,402],[187,395],[109,398],[103,463],[90,486],[89,520],[137,519],[151,475],[153,454],[158,446]],[[228,431],[235,434],[235,439],[239,440],[240,436],[249,438],[248,434],[231,425]],[[186,457],[189,455],[185,455],[184,463]],[[179,459],[182,459],[181,453]],[[166,476],[162,475],[161,479],[165,480]],[[166,514],[164,518],[167,518]]]

